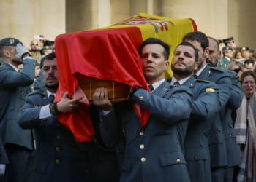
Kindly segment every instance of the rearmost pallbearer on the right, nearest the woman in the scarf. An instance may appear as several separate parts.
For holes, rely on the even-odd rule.
[[[216,39],[208,37],[209,52],[206,57],[206,63],[211,67],[216,67],[218,58],[220,57],[219,45]],[[253,63],[253,62],[252,62]],[[222,114],[222,129],[226,141],[227,150],[227,167],[225,169],[224,181],[233,181],[233,168],[241,164],[241,158],[236,143],[236,132],[233,128],[233,122],[231,120],[231,111],[237,110],[241,106],[243,98],[243,90],[238,80],[238,75],[234,71],[226,71],[230,75],[232,81],[232,92],[230,98],[227,101],[225,110]]]

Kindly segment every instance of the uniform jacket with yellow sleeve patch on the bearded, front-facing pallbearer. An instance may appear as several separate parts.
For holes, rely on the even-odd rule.
[[[211,181],[208,133],[219,108],[216,84],[191,76],[182,86],[193,94],[192,111],[184,141],[189,178],[195,182]]]

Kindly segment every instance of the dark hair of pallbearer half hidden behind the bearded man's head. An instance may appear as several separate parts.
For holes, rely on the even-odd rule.
[[[182,41],[198,41],[201,44],[201,47],[203,48],[203,51],[206,50],[207,47],[209,47],[209,40],[205,33],[200,31],[194,31],[187,33]]]

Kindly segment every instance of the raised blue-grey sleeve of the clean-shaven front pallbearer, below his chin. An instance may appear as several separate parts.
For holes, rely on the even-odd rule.
[[[160,98],[146,90],[137,90],[132,99],[140,106],[155,114],[167,124],[189,119],[192,108],[192,92],[188,87],[173,87],[169,98]]]

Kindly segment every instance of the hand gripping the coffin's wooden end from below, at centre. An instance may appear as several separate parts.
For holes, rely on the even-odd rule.
[[[106,88],[97,88],[95,90],[94,105],[101,107],[103,111],[112,110],[112,103],[108,100],[108,91]]]

